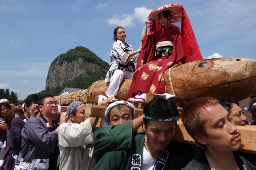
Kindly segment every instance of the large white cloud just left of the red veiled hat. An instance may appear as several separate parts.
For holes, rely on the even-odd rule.
[[[123,14],[122,16],[114,15],[112,18],[107,19],[107,22],[110,25],[132,27],[135,25],[135,20],[139,20],[139,22],[144,23],[144,20],[151,11],[153,11],[153,9],[138,7],[134,9],[134,13]]]

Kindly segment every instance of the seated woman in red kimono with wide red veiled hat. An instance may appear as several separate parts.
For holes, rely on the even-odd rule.
[[[203,59],[182,5],[165,5],[152,11],[148,18],[153,24],[149,35],[146,35],[147,28],[142,33],[145,38],[128,92],[130,101],[146,101],[146,93],[165,93],[164,73],[167,69]],[[174,20],[181,21],[181,32],[172,24]],[[147,26],[148,20],[145,23]]]

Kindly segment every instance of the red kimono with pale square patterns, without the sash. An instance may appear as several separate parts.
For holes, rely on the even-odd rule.
[[[144,38],[127,98],[135,96],[138,91],[163,94],[165,71],[175,65],[177,61],[182,64],[187,62],[187,49],[179,29],[169,26],[162,37],[160,36],[161,32],[160,30],[153,35],[146,35]],[[173,43],[172,54],[155,60],[155,45],[162,41]]]

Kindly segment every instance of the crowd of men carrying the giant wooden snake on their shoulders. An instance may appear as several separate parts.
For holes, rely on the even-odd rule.
[[[86,117],[86,105],[80,101],[69,104],[58,123],[57,101],[51,95],[30,94],[24,111],[0,102],[4,170],[256,169],[255,155],[239,151],[244,144],[236,125],[245,126],[247,119],[232,97],[185,101],[158,96],[136,119],[131,103],[110,97],[99,103],[106,105],[108,126],[96,129],[99,118]],[[256,101],[249,108],[255,113]],[[196,144],[173,140],[177,121]]]

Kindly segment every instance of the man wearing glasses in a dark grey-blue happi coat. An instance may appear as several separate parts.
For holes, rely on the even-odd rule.
[[[60,154],[58,133],[59,125],[53,121],[58,112],[57,102],[53,96],[46,95],[39,99],[41,114],[31,117],[22,130],[21,159],[22,170],[56,169]],[[60,117],[60,124],[67,121],[67,114]]]

